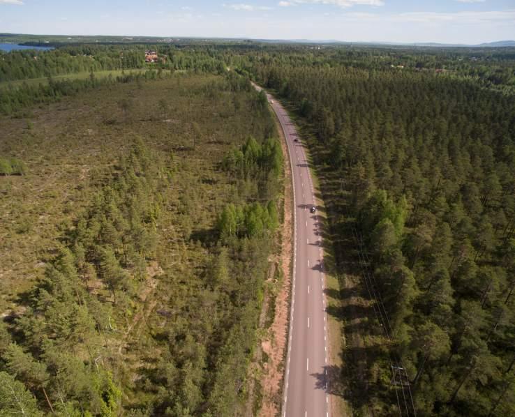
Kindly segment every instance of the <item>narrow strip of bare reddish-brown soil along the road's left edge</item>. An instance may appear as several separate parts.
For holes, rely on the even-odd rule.
[[[290,287],[292,265],[292,173],[283,130],[276,121],[281,135],[285,171],[284,222],[281,230],[281,255],[278,263],[283,270],[283,282],[276,298],[274,321],[269,335],[262,341],[261,349],[268,356],[261,377],[262,407],[260,416],[273,417],[281,412],[283,393],[283,370],[286,344],[288,342],[288,321],[290,314]]]

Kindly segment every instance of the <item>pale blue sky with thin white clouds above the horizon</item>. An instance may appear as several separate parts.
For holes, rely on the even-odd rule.
[[[515,0],[0,0],[0,32],[477,44]]]

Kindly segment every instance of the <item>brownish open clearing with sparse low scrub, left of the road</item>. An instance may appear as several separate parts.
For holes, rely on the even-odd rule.
[[[242,88],[240,81],[217,75],[177,74],[100,86],[58,103],[31,107],[27,119],[0,117],[0,155],[18,158],[26,167],[22,176],[0,176],[3,317],[27,311],[35,285],[46,279],[45,272],[56,255],[70,245],[76,220],[91,213],[92,204],[101,198],[100,188],[114,184],[119,167],[127,156],[132,157],[135,143],[142,143],[161,167],[154,178],[167,176],[168,182],[158,193],[162,208],[156,206],[160,213],[154,223],[156,255],[146,261],[145,278],[131,280],[133,287],[128,291],[132,295],[126,296],[124,289],[115,297],[101,279],[84,284],[84,291],[110,311],[110,333],[91,343],[102,357],[103,367],[119,382],[125,410],[167,407],[167,398],[159,397],[157,389],[164,365],[156,358],[172,355],[170,358],[181,361],[174,353],[174,344],[167,342],[169,332],[170,338],[181,332],[205,334],[198,330],[206,322],[199,314],[205,314],[202,308],[213,308],[218,294],[209,292],[205,281],[222,250],[214,246],[218,216],[228,202],[244,204],[257,192],[251,181],[234,181],[221,169],[229,151],[248,137],[269,137],[274,128],[268,112],[255,110],[255,91],[250,86]],[[242,243],[241,250],[255,255],[252,265],[237,257],[232,271],[245,275],[246,280],[248,274],[264,279],[264,273],[251,268],[267,266],[267,245],[252,248],[248,245],[257,242],[249,242]],[[230,285],[238,285],[239,278],[232,279]],[[211,297],[210,301],[202,301],[205,297]],[[257,300],[253,302],[254,310],[227,310],[226,314],[258,314]],[[199,307],[189,312],[188,306],[195,303]],[[253,326],[254,320],[250,320]],[[227,337],[232,321],[218,319],[210,326],[216,326],[213,338]],[[248,334],[253,335],[253,330]],[[193,335],[188,333],[188,338]],[[198,342],[202,343],[212,346],[209,340]],[[241,354],[246,356],[248,351]],[[205,360],[216,362],[217,355],[215,346]],[[199,372],[204,372],[204,367]],[[213,376],[205,378],[211,381]],[[179,381],[177,387],[175,384],[168,388],[171,393],[181,389]],[[235,402],[239,400],[244,402],[244,395]],[[44,401],[41,404],[45,407]],[[162,415],[161,409],[155,412]]]

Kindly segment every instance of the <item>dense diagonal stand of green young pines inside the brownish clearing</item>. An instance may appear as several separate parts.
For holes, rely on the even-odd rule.
[[[33,392],[46,387],[63,412],[119,413],[120,388],[95,356],[99,333],[112,326],[110,311],[89,294],[84,282],[100,277],[116,302],[117,291],[133,290],[131,266],[155,253],[151,236],[159,212],[156,195],[167,181],[161,163],[152,162],[148,149],[135,142],[111,181],[94,196],[90,210],[77,220],[70,248],[62,248],[47,268],[27,314],[17,320],[17,331],[31,353],[11,343],[1,354],[10,374]]]

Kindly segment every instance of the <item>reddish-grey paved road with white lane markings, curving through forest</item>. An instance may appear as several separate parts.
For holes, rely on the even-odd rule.
[[[255,86],[260,90],[259,86]],[[285,363],[282,415],[329,417],[327,332],[322,234],[315,192],[304,146],[288,113],[267,93],[284,131],[292,165],[294,202],[294,259],[288,354]],[[298,142],[297,142],[298,141]]]

